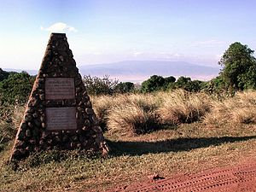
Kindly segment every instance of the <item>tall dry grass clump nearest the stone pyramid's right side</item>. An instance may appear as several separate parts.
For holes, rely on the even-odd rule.
[[[143,133],[155,125],[158,103],[152,95],[99,96],[92,102],[103,130]]]

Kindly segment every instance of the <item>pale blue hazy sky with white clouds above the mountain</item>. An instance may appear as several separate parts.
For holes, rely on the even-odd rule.
[[[0,0],[0,67],[38,69],[50,32],[78,65],[125,60],[218,66],[229,45],[256,49],[255,0]]]

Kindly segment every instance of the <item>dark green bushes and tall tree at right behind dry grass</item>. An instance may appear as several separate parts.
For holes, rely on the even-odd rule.
[[[142,84],[143,93],[158,90],[183,89],[189,92],[206,91],[218,96],[232,95],[237,90],[256,89],[256,58],[254,50],[241,43],[230,44],[224,52],[219,65],[224,67],[219,76],[208,82],[191,80],[189,77],[163,78],[153,75]],[[167,80],[170,79],[170,80]]]

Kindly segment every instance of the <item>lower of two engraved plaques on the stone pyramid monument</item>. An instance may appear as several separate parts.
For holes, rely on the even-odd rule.
[[[45,108],[47,130],[77,129],[76,108]]]

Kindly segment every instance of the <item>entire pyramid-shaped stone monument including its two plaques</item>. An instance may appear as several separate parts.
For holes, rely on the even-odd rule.
[[[55,147],[108,153],[64,33],[52,33],[49,38],[11,160]]]

